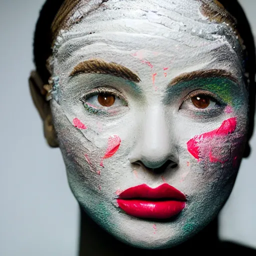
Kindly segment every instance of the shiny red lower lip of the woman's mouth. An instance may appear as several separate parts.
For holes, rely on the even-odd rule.
[[[170,218],[185,207],[185,202],[174,200],[117,199],[117,203],[127,214],[138,218]]]

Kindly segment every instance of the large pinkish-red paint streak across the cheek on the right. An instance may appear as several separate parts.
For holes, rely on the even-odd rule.
[[[195,135],[193,138],[187,141],[187,150],[190,154],[194,156],[194,158],[199,159],[199,147],[200,144],[205,140],[205,139],[213,139],[215,137],[219,136],[226,136],[232,132],[234,132],[236,128],[236,118],[232,117],[227,120],[224,120],[220,127],[217,129],[214,129],[209,132],[205,132],[200,135]],[[209,151],[209,159],[212,160],[213,162],[216,161],[216,159],[212,156],[211,154],[211,149]],[[221,160],[217,160],[220,161]]]

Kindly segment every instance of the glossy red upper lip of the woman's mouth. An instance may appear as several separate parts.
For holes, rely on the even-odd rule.
[[[141,184],[133,187],[129,187],[119,194],[120,199],[131,198],[152,198],[152,199],[176,199],[185,201],[186,196],[175,187],[163,183],[155,188],[151,188],[147,184]]]

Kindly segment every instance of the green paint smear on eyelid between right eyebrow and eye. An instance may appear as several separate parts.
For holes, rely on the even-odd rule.
[[[216,100],[222,104],[231,105],[235,109],[244,103],[244,93],[240,86],[226,77],[195,78],[189,81],[181,81],[169,86],[166,90],[164,104],[169,104],[173,97],[180,96],[184,90],[202,89],[208,90],[216,95]]]

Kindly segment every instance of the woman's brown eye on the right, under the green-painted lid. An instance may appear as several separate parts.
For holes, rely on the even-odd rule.
[[[220,106],[221,104],[213,99],[213,97],[205,94],[197,94],[190,96],[180,106],[180,109],[212,109]]]

